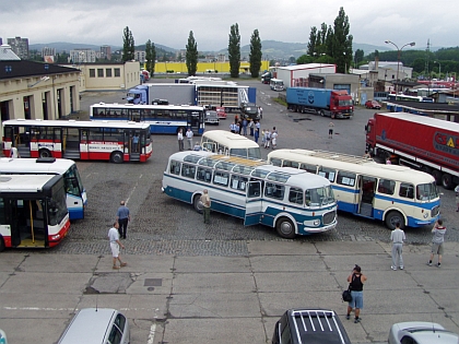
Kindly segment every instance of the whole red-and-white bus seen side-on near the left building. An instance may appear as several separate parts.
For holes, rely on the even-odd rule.
[[[3,154],[12,146],[21,157],[146,162],[152,155],[150,124],[75,120],[3,121]]]

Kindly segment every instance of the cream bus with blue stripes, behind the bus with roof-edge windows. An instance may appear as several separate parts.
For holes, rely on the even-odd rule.
[[[268,161],[327,178],[340,211],[384,221],[390,229],[397,223],[401,227],[429,225],[439,216],[434,177],[405,166],[305,150],[278,150],[268,154]]]

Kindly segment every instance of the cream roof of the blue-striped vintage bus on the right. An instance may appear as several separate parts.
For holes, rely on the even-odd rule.
[[[283,161],[299,162],[343,171],[358,173],[367,176],[397,179],[404,182],[427,183],[435,179],[428,174],[407,166],[378,164],[373,159],[325,151],[307,150],[276,150],[268,154],[268,161],[280,158]]]

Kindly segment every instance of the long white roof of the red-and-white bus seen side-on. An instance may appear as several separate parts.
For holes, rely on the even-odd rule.
[[[40,120],[40,119],[10,119],[2,122],[2,126],[16,127],[68,127],[68,128],[114,128],[114,129],[144,129],[150,130],[149,123],[131,121],[90,121],[90,120]]]

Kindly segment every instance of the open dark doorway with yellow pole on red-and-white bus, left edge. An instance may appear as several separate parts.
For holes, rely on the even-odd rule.
[[[40,200],[5,200],[12,247],[45,247],[47,239]]]

